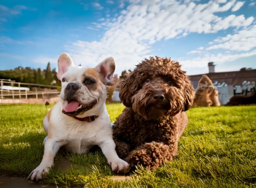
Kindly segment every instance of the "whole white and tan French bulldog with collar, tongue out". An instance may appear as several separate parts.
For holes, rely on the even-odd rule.
[[[111,83],[115,69],[112,57],[95,68],[75,66],[67,53],[58,59],[57,77],[62,82],[60,100],[43,121],[48,133],[44,156],[27,179],[40,180],[60,147],[73,153],[85,153],[98,145],[115,172],[129,171],[127,162],[120,159],[112,138],[111,122],[105,106],[106,85]]]

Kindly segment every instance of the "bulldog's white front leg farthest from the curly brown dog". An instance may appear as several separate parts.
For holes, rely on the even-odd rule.
[[[30,173],[27,179],[35,179],[36,181],[43,179],[43,173],[48,173],[48,168],[53,167],[54,157],[60,147],[61,145],[59,143],[53,139],[48,138],[45,142],[45,150],[42,162]]]

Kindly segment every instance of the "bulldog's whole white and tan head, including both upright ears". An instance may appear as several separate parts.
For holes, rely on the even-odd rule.
[[[106,85],[112,82],[114,58],[106,58],[95,68],[88,68],[74,66],[70,56],[63,53],[58,60],[58,67],[62,112],[79,118],[101,113],[107,96]]]

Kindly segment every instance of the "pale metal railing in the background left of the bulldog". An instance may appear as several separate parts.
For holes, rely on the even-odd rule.
[[[26,99],[28,99],[28,95],[35,95],[35,98],[38,99],[39,95],[42,95],[42,98],[44,98],[44,95],[49,96],[49,95],[58,95],[60,92],[59,91],[37,91],[38,87],[45,87],[45,88],[55,88],[57,89],[58,86],[49,86],[49,85],[42,85],[42,84],[28,84],[28,83],[21,83],[21,82],[15,82],[15,81],[11,81],[11,80],[5,80],[5,79],[0,79],[1,82],[1,99],[4,99],[5,97],[12,97],[12,99],[15,99],[15,96],[19,96],[19,99],[22,98],[22,96],[25,96]],[[11,85],[11,87],[15,87],[15,85],[18,85],[19,90],[18,91],[14,91],[13,90],[3,90],[3,86],[4,84],[8,84]],[[21,87],[21,85],[25,85],[25,86],[34,86],[35,87],[35,91],[21,91],[23,90],[23,88]],[[11,93],[10,93],[11,92]]]

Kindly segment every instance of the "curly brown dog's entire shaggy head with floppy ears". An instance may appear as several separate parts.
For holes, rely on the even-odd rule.
[[[178,62],[151,58],[120,83],[120,99],[146,119],[159,119],[190,108],[194,89]]]

